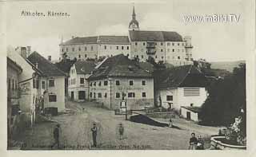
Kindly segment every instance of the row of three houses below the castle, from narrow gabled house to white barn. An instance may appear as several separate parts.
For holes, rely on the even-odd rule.
[[[123,100],[128,109],[173,108],[197,120],[194,108],[200,108],[207,97],[206,77],[200,70],[194,65],[153,70],[150,63],[145,64],[123,54],[107,57],[98,65],[77,61],[70,68],[68,96],[76,101],[93,100],[110,109],[120,108]]]

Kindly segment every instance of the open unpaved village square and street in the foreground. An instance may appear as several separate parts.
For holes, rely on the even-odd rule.
[[[174,124],[177,128],[160,128],[146,124],[136,124],[125,120],[125,116],[115,116],[113,111],[96,108],[92,103],[66,102],[70,112],[54,116],[53,120],[61,126],[61,149],[163,149],[186,150],[190,134],[202,135],[206,139],[206,147],[210,147],[210,134],[218,132],[218,128],[198,127],[191,122],[177,118]],[[161,120],[161,119],[159,119]],[[162,120],[163,122],[165,120]],[[99,130],[97,135],[98,147],[91,147],[92,135],[90,128],[96,123]],[[118,124],[122,123],[125,131],[123,139],[118,136]],[[53,130],[57,123],[35,124],[33,130],[28,129],[20,135],[18,141],[26,143],[22,149],[56,149]],[[204,131],[206,130],[206,131]],[[216,132],[216,133],[217,133]]]

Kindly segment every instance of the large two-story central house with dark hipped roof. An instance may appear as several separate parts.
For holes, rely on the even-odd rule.
[[[136,61],[120,54],[107,58],[89,77],[90,100],[110,109],[120,108],[126,101],[128,109],[154,106],[154,79]]]

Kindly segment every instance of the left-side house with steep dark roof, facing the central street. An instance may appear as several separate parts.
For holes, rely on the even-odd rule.
[[[43,100],[38,108],[58,108],[58,112],[64,111],[65,73],[37,52],[31,53],[27,60],[42,73],[42,76],[35,80],[38,95]]]

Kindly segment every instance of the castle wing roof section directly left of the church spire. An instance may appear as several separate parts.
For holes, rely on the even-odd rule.
[[[130,44],[128,36],[99,36],[98,44]]]

